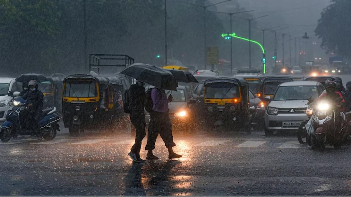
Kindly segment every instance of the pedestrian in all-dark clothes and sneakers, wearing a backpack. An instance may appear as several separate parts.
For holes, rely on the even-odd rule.
[[[144,82],[137,81],[137,84],[133,84],[129,90],[127,90],[128,103],[127,107],[129,110],[129,116],[133,126],[136,129],[135,132],[135,143],[128,153],[130,158],[134,162],[145,162],[144,159],[140,158],[141,142],[143,141],[145,133],[145,88]],[[126,104],[126,103],[124,103]]]

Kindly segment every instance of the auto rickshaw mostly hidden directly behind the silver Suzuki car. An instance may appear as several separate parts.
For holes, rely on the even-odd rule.
[[[286,76],[286,77],[266,76],[266,77],[261,77],[261,80],[262,80],[262,84],[260,87],[260,94],[261,94],[260,99],[263,101],[266,96],[270,96],[271,98],[273,98],[273,95],[276,92],[279,84],[294,81],[289,76]]]

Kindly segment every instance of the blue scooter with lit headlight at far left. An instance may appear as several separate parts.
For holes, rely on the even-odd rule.
[[[26,121],[26,101],[19,95],[19,92],[8,93],[9,96],[14,97],[11,106],[6,115],[6,122],[0,126],[0,140],[8,142],[11,137],[16,135],[36,135],[33,130],[28,128]],[[59,129],[59,120],[61,115],[55,113],[56,108],[51,107],[42,111],[39,117],[39,125],[44,140],[53,140]]]

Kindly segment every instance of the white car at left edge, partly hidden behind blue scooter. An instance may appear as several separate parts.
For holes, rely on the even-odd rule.
[[[9,102],[12,100],[12,96],[8,96],[7,93],[12,92],[21,92],[22,83],[16,82],[15,78],[0,78],[0,123],[6,121],[6,114],[9,107]]]

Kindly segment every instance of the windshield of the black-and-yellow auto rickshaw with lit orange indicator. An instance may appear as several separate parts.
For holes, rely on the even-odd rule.
[[[237,84],[218,82],[206,85],[205,99],[232,99],[239,98]]]

